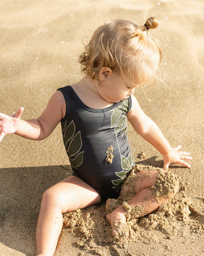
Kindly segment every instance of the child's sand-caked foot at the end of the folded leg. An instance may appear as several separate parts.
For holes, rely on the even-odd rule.
[[[130,230],[126,222],[126,217],[123,214],[124,208],[120,205],[117,209],[106,215],[107,221],[111,224],[113,236],[115,238],[128,238]]]

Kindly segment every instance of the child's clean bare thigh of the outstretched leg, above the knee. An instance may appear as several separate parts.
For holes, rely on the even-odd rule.
[[[62,212],[84,208],[101,201],[100,195],[76,176],[68,177],[50,187],[43,196],[61,207]]]

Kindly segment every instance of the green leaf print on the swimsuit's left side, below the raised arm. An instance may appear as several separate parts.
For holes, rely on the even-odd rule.
[[[64,146],[65,146],[67,155],[69,157],[69,162],[71,166],[77,169],[77,167],[82,164],[83,154],[84,154],[84,151],[78,153],[82,147],[81,131],[79,130],[75,134],[76,128],[73,120],[66,127],[66,129],[65,127],[66,127],[66,123],[62,125],[63,138],[64,138],[64,141],[66,142]]]

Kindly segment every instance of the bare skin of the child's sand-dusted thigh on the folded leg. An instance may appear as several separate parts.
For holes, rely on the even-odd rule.
[[[164,170],[164,172],[166,172]],[[155,185],[155,181],[157,179],[159,170],[150,170],[150,169],[143,169],[142,171],[138,171],[135,173],[134,176],[131,176],[131,173],[127,177],[129,181],[126,183],[124,182],[120,195],[124,192],[132,189],[135,187],[136,194],[140,192],[142,189],[150,188],[151,186]]]

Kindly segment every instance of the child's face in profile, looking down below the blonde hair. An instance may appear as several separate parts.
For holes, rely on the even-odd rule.
[[[104,81],[101,81],[97,91],[106,101],[116,103],[134,94],[135,87],[137,84],[133,84],[112,72],[105,77]]]

